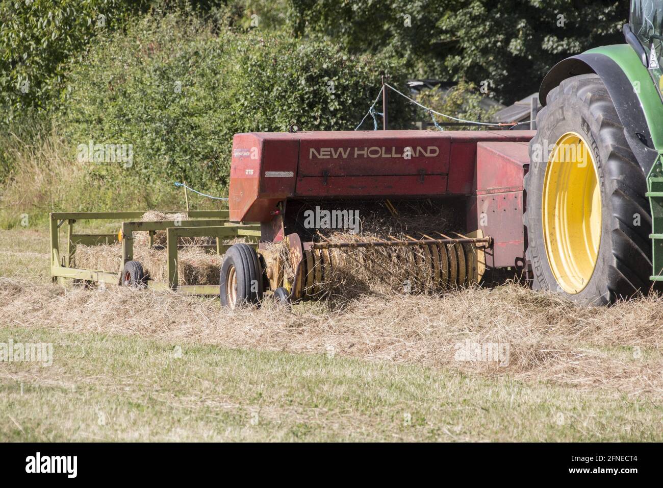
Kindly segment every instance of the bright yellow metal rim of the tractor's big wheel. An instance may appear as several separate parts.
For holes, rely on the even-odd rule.
[[[579,134],[557,141],[542,197],[548,262],[567,293],[579,293],[594,272],[601,242],[601,188],[591,148]]]

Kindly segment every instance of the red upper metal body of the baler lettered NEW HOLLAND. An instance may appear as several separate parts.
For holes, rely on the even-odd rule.
[[[527,142],[533,131],[243,133],[233,139],[233,221],[267,223],[286,199],[475,195],[477,143]],[[513,175],[505,175],[505,179]],[[503,183],[503,184],[502,184]],[[502,187],[522,187],[520,181]]]

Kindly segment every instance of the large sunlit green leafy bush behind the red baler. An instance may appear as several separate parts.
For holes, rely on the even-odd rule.
[[[58,119],[78,145],[131,144],[130,167],[90,163],[94,177],[164,187],[186,179],[227,191],[235,133],[354,129],[379,92],[381,73],[402,66],[352,56],[326,41],[213,33],[202,21],[149,15],[126,35],[99,39],[68,77]],[[412,120],[392,98],[394,127]],[[364,127],[370,128],[367,123]]]

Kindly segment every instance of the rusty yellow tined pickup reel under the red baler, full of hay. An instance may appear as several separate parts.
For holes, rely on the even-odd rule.
[[[288,264],[294,276],[268,272],[268,277],[276,278],[270,284],[272,289],[282,286],[288,291],[290,301],[326,297],[347,274],[361,271],[373,274],[376,281],[394,291],[434,293],[469,287],[481,282],[485,272],[484,249],[491,244],[491,238],[483,237],[481,231],[473,234],[303,243],[298,234],[290,234]],[[272,264],[272,269],[274,266],[278,264]]]

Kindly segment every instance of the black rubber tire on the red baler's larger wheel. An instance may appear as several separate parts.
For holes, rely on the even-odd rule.
[[[234,307],[257,305],[263,299],[262,269],[255,249],[247,244],[233,244],[225,253],[219,276],[221,305],[234,308],[226,293],[225,282],[232,268],[237,275],[237,300]]]

